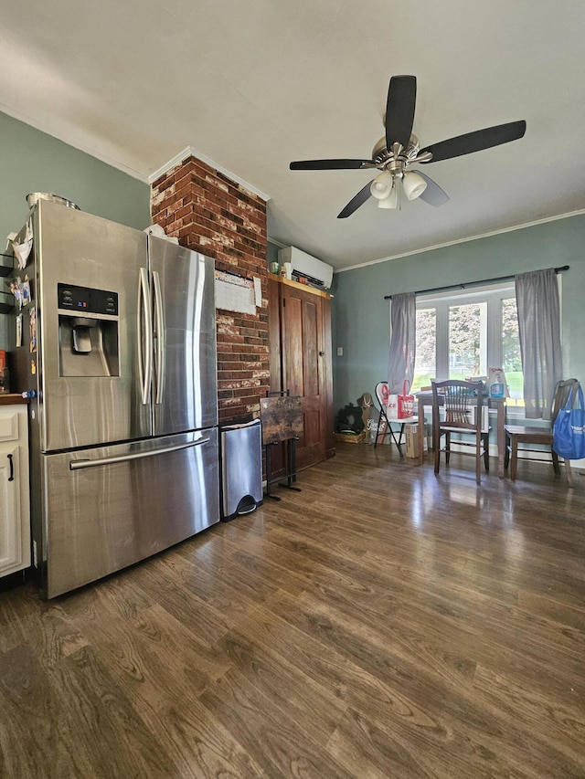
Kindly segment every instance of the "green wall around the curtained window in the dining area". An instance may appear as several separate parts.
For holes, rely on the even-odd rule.
[[[399,215],[396,215],[399,216]],[[388,373],[385,295],[569,265],[562,274],[565,376],[585,383],[585,215],[478,238],[336,273],[333,293],[334,410],[356,403]],[[337,348],[343,356],[337,357]]]

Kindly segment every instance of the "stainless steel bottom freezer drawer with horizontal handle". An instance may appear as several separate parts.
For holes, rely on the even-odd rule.
[[[218,432],[42,456],[44,592],[69,592],[219,520]]]

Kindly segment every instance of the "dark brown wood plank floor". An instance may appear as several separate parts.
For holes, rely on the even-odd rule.
[[[341,445],[77,593],[0,594],[0,775],[585,777],[585,477]]]

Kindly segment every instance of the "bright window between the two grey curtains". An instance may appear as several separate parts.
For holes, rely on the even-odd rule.
[[[417,355],[412,389],[431,378],[487,376],[505,370],[509,404],[524,405],[514,283],[417,298]]]

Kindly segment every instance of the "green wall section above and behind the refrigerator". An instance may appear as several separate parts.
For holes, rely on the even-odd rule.
[[[90,154],[0,112],[0,251],[24,224],[29,192],[54,192],[81,210],[144,229],[150,224],[150,186]],[[5,290],[4,279],[0,279]],[[0,314],[0,348],[6,345]]]

